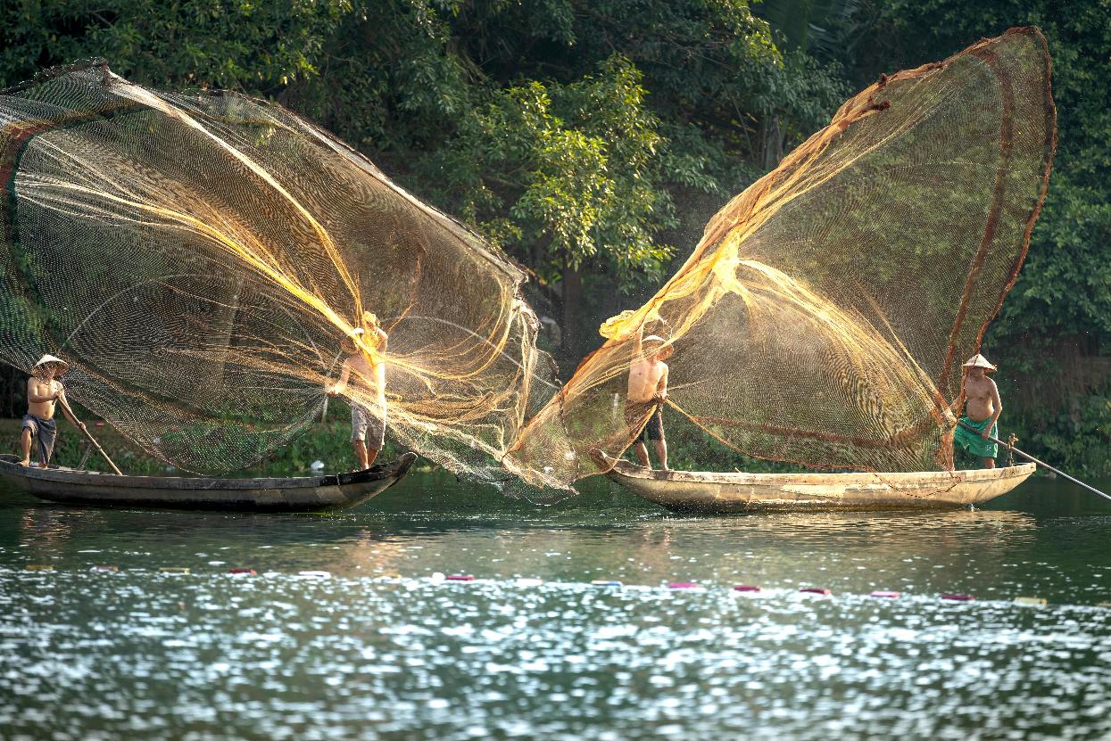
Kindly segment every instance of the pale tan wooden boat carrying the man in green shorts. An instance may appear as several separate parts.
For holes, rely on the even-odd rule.
[[[980,504],[1025,481],[1033,463],[911,473],[713,473],[657,471],[628,461],[607,475],[678,512],[927,509]]]

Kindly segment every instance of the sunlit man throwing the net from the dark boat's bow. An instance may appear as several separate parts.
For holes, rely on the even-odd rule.
[[[368,312],[363,323],[373,342],[373,357],[368,358],[356,342],[367,330],[357,329],[340,344],[347,359],[340,371],[339,381],[328,389],[329,395],[338,397],[348,391],[348,382],[354,374],[354,393],[347,393],[351,404],[351,447],[360,471],[369,469],[386,444],[386,363],[381,356],[386,352],[388,337],[378,326],[378,319]],[[363,405],[370,402],[370,407]]]

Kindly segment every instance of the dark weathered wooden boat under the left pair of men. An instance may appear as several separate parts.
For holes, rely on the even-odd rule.
[[[251,512],[316,512],[376,497],[409,472],[416,453],[392,463],[338,475],[292,479],[201,479],[117,475],[60,468],[28,468],[0,454],[0,483],[53,502]]]

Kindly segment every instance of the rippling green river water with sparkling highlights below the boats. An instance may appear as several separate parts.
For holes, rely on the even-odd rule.
[[[731,517],[430,474],[331,515],[0,492],[0,738],[1108,739],[1109,544],[1111,503],[1043,479]]]

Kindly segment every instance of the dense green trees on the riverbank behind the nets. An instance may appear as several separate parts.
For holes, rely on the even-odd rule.
[[[1038,24],[1060,144],[983,352],[1004,435],[1111,473],[1109,14],[1108,0],[16,0],[0,8],[0,86],[103,57],[144,84],[281,102],[527,266],[569,375],[598,324],[651,296],[847,96]],[[24,378],[2,378],[0,413],[22,413]],[[677,463],[698,460],[688,444],[673,440]]]

